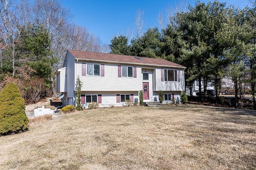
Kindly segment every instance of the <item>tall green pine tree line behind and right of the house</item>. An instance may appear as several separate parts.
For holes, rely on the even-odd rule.
[[[195,80],[199,82],[199,94],[212,83],[216,105],[222,78],[229,77],[234,82],[236,108],[244,95],[242,84],[250,84],[256,109],[256,1],[250,0],[250,4],[251,7],[240,9],[218,1],[197,1],[188,10],[169,14],[168,24],[161,30],[153,27],[144,33],[140,18],[136,22],[140,26],[137,36],[131,41],[126,35],[115,36],[109,45],[110,53],[161,58],[186,66],[186,87],[191,96]]]

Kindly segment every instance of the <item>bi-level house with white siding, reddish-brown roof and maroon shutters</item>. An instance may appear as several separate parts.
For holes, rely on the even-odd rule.
[[[76,80],[82,82],[82,104],[98,102],[101,107],[122,106],[126,100],[163,103],[179,100],[185,90],[186,67],[166,61],[126,55],[67,50],[58,69],[57,92],[64,93],[67,105],[76,105]]]

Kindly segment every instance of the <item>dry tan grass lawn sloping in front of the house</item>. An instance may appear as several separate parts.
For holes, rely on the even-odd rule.
[[[256,111],[199,105],[61,115],[0,137],[1,170],[256,169]]]

